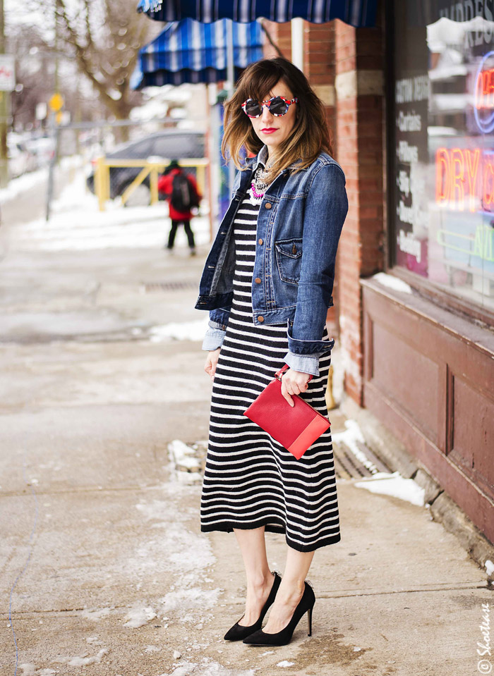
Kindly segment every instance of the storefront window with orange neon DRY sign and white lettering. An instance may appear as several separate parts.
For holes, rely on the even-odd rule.
[[[394,262],[493,309],[494,4],[419,4],[394,1]]]

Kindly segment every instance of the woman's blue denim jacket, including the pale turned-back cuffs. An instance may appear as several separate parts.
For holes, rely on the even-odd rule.
[[[205,262],[195,305],[210,312],[203,350],[222,345],[233,298],[233,222],[253,171],[266,159],[264,145],[236,174],[229,208]],[[320,355],[335,344],[322,337],[327,308],[333,305],[335,257],[348,199],[342,168],[330,155],[321,152],[311,166],[291,173],[296,164],[279,173],[260,204],[253,323],[286,321],[289,352],[284,361],[292,369],[317,376]]]

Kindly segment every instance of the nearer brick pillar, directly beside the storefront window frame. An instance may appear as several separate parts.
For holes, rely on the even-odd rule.
[[[347,177],[349,214],[337,259],[345,391],[363,404],[359,280],[383,269],[383,53],[379,27],[335,24],[337,160]]]

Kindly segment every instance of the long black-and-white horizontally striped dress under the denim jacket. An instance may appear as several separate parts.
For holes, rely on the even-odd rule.
[[[340,539],[330,430],[296,460],[243,415],[283,366],[288,351],[286,322],[253,324],[258,211],[259,204],[246,197],[234,221],[234,299],[212,385],[200,526],[203,532],[265,526],[284,533],[291,548],[313,551]],[[330,360],[330,352],[320,357],[320,375],[302,395],[323,415]]]

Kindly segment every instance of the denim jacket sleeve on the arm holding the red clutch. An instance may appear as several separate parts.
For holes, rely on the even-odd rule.
[[[336,252],[347,211],[342,169],[336,164],[323,164],[313,176],[303,216],[301,274],[295,316],[287,330],[288,355],[294,358],[318,359],[335,344],[322,337],[327,308],[333,305]]]

